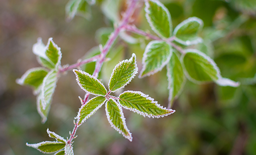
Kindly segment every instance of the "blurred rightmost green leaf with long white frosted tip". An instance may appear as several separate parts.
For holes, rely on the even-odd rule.
[[[239,82],[223,78],[216,63],[205,53],[196,49],[186,49],[185,52],[182,56],[182,63],[185,75],[192,82],[201,83],[213,80],[222,86],[239,86]]]

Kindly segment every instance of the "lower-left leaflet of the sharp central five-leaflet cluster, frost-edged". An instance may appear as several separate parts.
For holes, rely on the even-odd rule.
[[[96,96],[91,98],[78,111],[77,119],[79,119],[79,125],[86,121],[91,115],[93,115],[106,101],[104,96]]]

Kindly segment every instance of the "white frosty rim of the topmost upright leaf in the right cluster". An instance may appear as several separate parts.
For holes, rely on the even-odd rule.
[[[150,27],[152,28],[152,30],[157,33],[161,38],[166,38],[165,36],[163,36],[162,34],[160,34],[158,32],[158,30],[155,28],[154,24],[152,23],[151,19],[150,19],[150,16],[149,16],[149,13],[150,13],[150,10],[149,10],[149,0],[145,0],[145,11],[146,11],[146,18],[150,24]],[[169,24],[170,24],[170,36],[172,35],[172,20],[171,20],[171,14],[169,12],[169,10],[165,7],[165,5],[163,3],[161,3],[159,0],[150,0],[150,1],[153,1],[155,3],[157,3],[159,6],[161,6],[166,12],[167,12],[167,16],[168,16],[168,20],[169,20]],[[170,37],[169,36],[169,37]]]

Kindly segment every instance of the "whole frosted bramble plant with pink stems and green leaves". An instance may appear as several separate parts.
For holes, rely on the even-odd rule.
[[[239,86],[239,82],[221,76],[220,69],[208,53],[200,51],[198,48],[191,48],[191,46],[204,42],[204,39],[198,36],[203,28],[203,21],[200,18],[189,17],[179,23],[173,30],[171,14],[165,5],[159,0],[145,0],[146,19],[152,30],[157,34],[155,35],[131,24],[134,20],[133,13],[135,9],[143,1],[127,0],[127,2],[129,2],[129,7],[122,14],[122,18],[119,19],[116,14],[109,12],[113,10],[109,10],[108,6],[113,5],[114,1],[105,1],[102,9],[106,16],[116,22],[116,26],[109,36],[105,34],[107,35],[107,41],[99,45],[100,53],[90,58],[72,65],[61,66],[62,53],[60,47],[53,42],[52,38],[49,38],[46,45],[41,38],[38,38],[37,43],[33,45],[33,53],[37,55],[38,62],[43,67],[29,69],[20,79],[17,79],[17,83],[34,88],[34,93],[37,95],[37,110],[43,123],[47,120],[56,83],[63,72],[73,70],[77,83],[86,94],[84,99],[79,97],[82,105],[75,117],[75,126],[69,138],[64,139],[47,129],[49,136],[55,138],[56,141],[27,143],[28,146],[37,148],[44,153],[73,154],[72,144],[76,137],[77,128],[103,104],[105,104],[106,117],[110,125],[125,138],[132,141],[132,133],[126,126],[122,108],[153,118],[170,115],[175,112],[171,107],[183,90],[186,78],[197,84],[214,81],[221,86]],[[90,15],[89,5],[94,3],[95,0],[70,0],[66,5],[67,19],[71,20],[75,15],[88,17]],[[151,39],[143,54],[140,78],[152,75],[161,71],[165,66],[167,67],[168,108],[161,106],[141,91],[127,90],[120,93],[119,96],[110,95],[131,82],[138,73],[135,53],[132,54],[130,59],[122,60],[115,65],[108,82],[108,90],[98,79],[101,66],[107,60],[106,55],[109,51],[111,52],[111,47],[116,38],[120,36],[125,41],[130,42],[135,39],[125,33],[127,31]],[[92,75],[83,70],[75,69],[89,62],[96,62]],[[96,96],[89,99],[90,94]]]

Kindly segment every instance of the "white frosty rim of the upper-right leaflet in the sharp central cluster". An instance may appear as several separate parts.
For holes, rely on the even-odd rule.
[[[132,62],[132,61],[133,61],[133,58],[135,58],[135,69],[134,69],[133,75],[132,75],[132,76],[130,77],[130,79],[129,79],[125,84],[123,84],[121,87],[115,89],[114,91],[110,90],[109,84],[110,84],[110,81],[111,81],[111,79],[112,79],[112,77],[113,77],[113,75],[114,75],[114,70],[115,70],[118,66],[120,66],[122,63]],[[113,71],[112,71],[112,73],[111,73],[110,79],[109,79],[109,81],[108,81],[108,89],[109,89],[111,92],[115,92],[115,91],[117,91],[117,90],[120,90],[121,88],[123,88],[124,86],[126,86],[127,84],[129,84],[129,83],[132,81],[132,79],[135,77],[135,75],[136,75],[137,73],[138,73],[138,67],[137,67],[137,61],[136,61],[136,54],[133,53],[133,54],[132,54],[132,57],[131,57],[129,60],[128,60],[128,59],[124,59],[124,60],[120,61],[118,64],[115,65],[115,67],[113,68]]]

